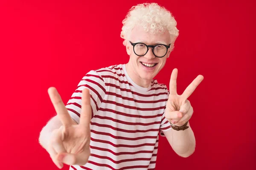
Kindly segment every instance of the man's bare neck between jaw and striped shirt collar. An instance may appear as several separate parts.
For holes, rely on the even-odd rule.
[[[127,74],[129,75],[129,77],[132,79],[133,82],[135,82],[140,87],[148,88],[148,86],[150,85],[152,80],[147,80],[147,79],[141,78],[135,72],[135,69],[133,69],[133,66],[130,64],[130,62],[125,64],[125,68],[126,68]]]

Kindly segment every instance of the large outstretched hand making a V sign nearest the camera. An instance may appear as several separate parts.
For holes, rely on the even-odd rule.
[[[52,131],[47,151],[58,168],[64,164],[86,164],[90,156],[90,93],[82,91],[81,116],[79,124],[74,125],[67,108],[56,88],[48,89],[49,97],[61,120],[62,126]]]

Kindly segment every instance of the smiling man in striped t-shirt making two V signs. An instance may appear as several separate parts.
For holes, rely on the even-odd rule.
[[[154,169],[159,132],[178,155],[188,157],[195,150],[187,98],[204,77],[199,75],[182,95],[176,68],[169,91],[153,79],[174,48],[175,19],[156,3],[145,3],[132,7],[123,24],[127,64],[87,73],[66,106],[55,88],[48,90],[57,115],[39,141],[59,168]]]

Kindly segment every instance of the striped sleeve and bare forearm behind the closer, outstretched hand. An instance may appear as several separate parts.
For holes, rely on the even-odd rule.
[[[77,125],[80,119],[81,113],[81,91],[87,88],[90,91],[90,104],[92,108],[92,113],[96,113],[98,107],[102,102],[102,98],[105,95],[105,82],[102,77],[96,73],[95,71],[90,71],[87,73],[79,82],[76,91],[72,94],[71,99],[67,102],[65,106],[67,108],[68,113],[73,118],[73,125]],[[91,116],[93,117],[93,115]],[[47,125],[43,127],[39,136],[39,143],[47,150],[47,144],[51,137],[52,131],[60,128],[62,125],[61,120],[58,115],[52,117],[49,120]]]

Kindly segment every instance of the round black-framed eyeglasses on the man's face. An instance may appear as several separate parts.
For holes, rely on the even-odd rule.
[[[134,48],[134,53],[137,56],[144,56],[148,52],[148,48],[152,48],[152,52],[156,57],[164,57],[167,54],[168,48],[170,45],[157,44],[157,45],[146,45],[142,42],[132,43],[129,41]]]

